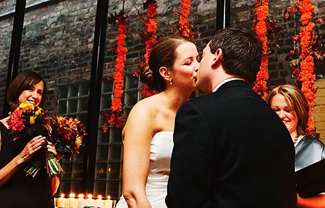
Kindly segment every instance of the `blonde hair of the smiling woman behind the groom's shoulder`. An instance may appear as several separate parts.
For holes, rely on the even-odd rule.
[[[296,127],[297,135],[304,135],[307,129],[309,117],[309,105],[302,91],[293,85],[277,86],[268,94],[266,102],[271,106],[273,97],[276,94],[282,94],[285,97],[287,105],[294,109],[298,116],[298,125]]]

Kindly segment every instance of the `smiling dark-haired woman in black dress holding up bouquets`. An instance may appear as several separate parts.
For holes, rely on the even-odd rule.
[[[47,88],[40,75],[24,71],[17,75],[7,90],[7,101],[12,110],[21,103],[31,103],[42,107],[45,103]],[[51,196],[57,191],[59,179],[47,177],[41,168],[38,175],[26,177],[24,168],[27,161],[37,155],[46,138],[38,135],[25,146],[12,142],[8,131],[8,118],[0,120],[0,202],[1,207],[53,207]],[[53,144],[47,150],[57,155]]]

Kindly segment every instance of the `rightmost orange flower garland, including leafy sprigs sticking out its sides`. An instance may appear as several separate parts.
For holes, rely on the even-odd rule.
[[[300,27],[300,33],[295,35],[293,40],[296,42],[294,51],[290,51],[291,55],[299,55],[300,68],[296,68],[293,71],[296,81],[302,82],[302,92],[307,99],[309,105],[309,119],[307,122],[307,133],[319,137],[319,133],[315,133],[315,125],[313,119],[312,108],[314,106],[314,99],[316,99],[317,89],[315,85],[315,59],[322,59],[322,51],[315,49],[313,46],[317,44],[317,36],[315,35],[315,23],[311,21],[312,14],[315,11],[315,6],[311,4],[311,0],[298,0],[294,5],[287,8],[287,14],[285,18],[289,18],[288,13],[295,13],[300,10],[300,21],[302,26]],[[322,23],[322,18],[317,18],[317,21]]]

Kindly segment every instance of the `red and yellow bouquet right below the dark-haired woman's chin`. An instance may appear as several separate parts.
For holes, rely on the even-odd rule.
[[[7,124],[12,141],[17,142],[22,147],[38,135],[43,135],[47,137],[47,140],[51,141],[51,118],[47,115],[46,111],[40,107],[35,107],[33,104],[21,103],[10,114]],[[60,174],[62,172],[60,163],[53,153],[47,151],[47,142],[42,145],[42,149],[46,159],[44,160],[44,154],[38,155],[36,160],[32,159],[29,162],[31,164],[24,169],[27,175],[35,177],[44,164],[46,164],[49,176]]]

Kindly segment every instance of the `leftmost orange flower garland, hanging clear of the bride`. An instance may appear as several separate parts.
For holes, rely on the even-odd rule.
[[[122,127],[125,125],[125,116],[122,114],[122,94],[124,86],[124,64],[127,60],[127,48],[125,47],[125,35],[127,32],[127,15],[124,12],[119,14],[110,14],[109,23],[115,23],[118,21],[118,35],[116,36],[116,60],[115,60],[115,72],[113,73],[114,79],[114,99],[109,112],[105,113],[105,123],[103,125],[103,132],[107,132],[107,125],[112,124],[114,127]]]

